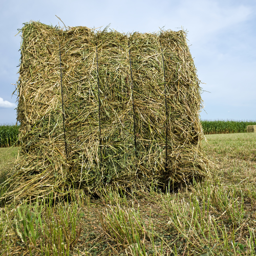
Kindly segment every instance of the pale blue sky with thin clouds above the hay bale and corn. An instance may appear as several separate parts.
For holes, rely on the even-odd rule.
[[[201,119],[256,120],[255,14],[255,0],[0,0],[0,124],[16,123],[17,29],[30,20],[62,26],[55,15],[66,26],[124,33],[182,27],[204,90]]]

